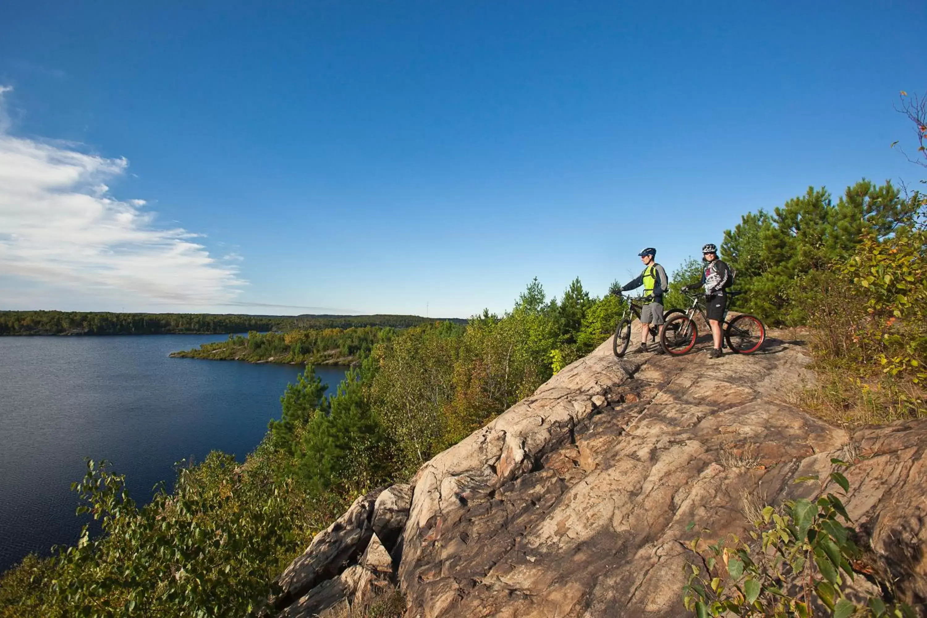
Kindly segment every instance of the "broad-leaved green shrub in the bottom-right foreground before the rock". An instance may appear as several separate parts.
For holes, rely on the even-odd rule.
[[[815,480],[804,477],[796,482]],[[844,492],[849,488],[842,473],[832,473],[831,480]],[[695,560],[686,563],[686,610],[699,618],[806,618],[818,605],[834,618],[914,617],[904,604],[872,598],[865,607],[857,607],[844,597],[844,586],[856,577],[853,564],[861,552],[840,498],[829,493],[816,501],[788,500],[779,510],[765,506],[758,514],[750,531],[753,546],[734,535],[713,544],[696,536],[688,543]],[[885,585],[890,588],[891,582]]]

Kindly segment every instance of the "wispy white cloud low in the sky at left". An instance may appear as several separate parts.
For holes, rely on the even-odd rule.
[[[0,279],[16,284],[0,287],[0,309],[19,305],[11,289],[59,307],[69,297],[135,309],[235,299],[246,283],[235,259],[210,257],[195,233],[159,227],[145,200],[109,195],[106,181],[125,173],[125,158],[10,135],[9,90],[0,86]]]

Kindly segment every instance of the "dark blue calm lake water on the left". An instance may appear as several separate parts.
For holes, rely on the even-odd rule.
[[[173,463],[213,449],[242,460],[280,416],[301,367],[171,359],[226,335],[0,337],[0,571],[31,551],[73,544],[70,484],[84,457],[126,474],[146,502]],[[331,389],[344,369],[317,372]]]

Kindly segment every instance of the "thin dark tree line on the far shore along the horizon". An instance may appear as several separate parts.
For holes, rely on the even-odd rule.
[[[464,320],[452,320],[465,322]],[[224,334],[295,329],[407,328],[414,315],[269,316],[228,313],[112,313],[108,311],[0,311],[0,335],[9,334]]]

